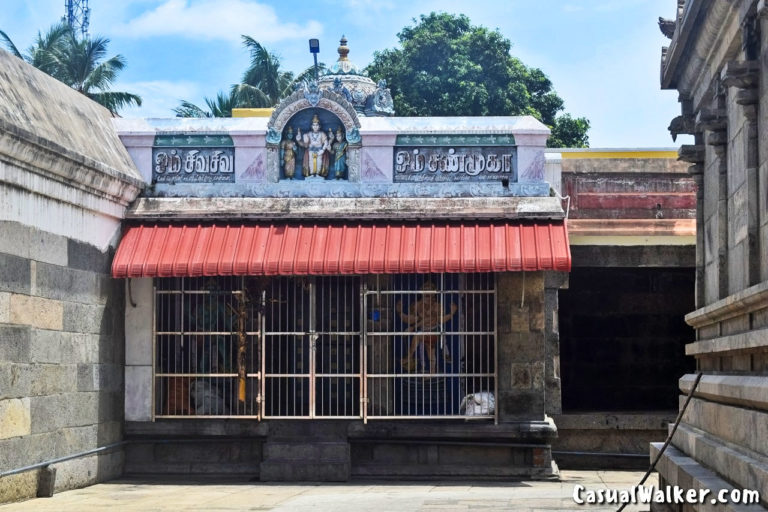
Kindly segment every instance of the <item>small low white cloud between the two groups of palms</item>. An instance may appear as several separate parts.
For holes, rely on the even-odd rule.
[[[146,82],[120,82],[112,88],[141,96],[141,107],[130,107],[120,111],[122,117],[173,117],[172,108],[181,100],[198,105],[203,104],[199,84],[192,82],[169,82],[154,80]]]

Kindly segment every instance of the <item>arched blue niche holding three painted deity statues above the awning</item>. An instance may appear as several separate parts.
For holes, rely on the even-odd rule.
[[[288,122],[279,145],[281,179],[347,179],[344,125],[332,113],[321,112],[302,111]]]

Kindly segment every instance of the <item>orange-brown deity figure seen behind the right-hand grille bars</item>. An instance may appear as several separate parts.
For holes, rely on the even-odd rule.
[[[426,292],[434,292],[437,288],[427,281],[421,288]],[[437,294],[425,293],[421,299],[412,303],[407,312],[403,311],[402,303],[395,304],[395,311],[403,322],[408,324],[407,332],[416,332],[411,338],[408,353],[403,356],[400,364],[408,372],[417,370],[417,352],[423,346],[424,358],[429,361],[429,373],[437,372],[437,348],[440,342],[442,325],[448,322],[457,311],[456,304],[451,303],[450,313],[446,313],[443,305],[437,300]],[[434,333],[434,334],[429,334]],[[451,362],[451,354],[447,346],[442,346],[443,360]],[[425,369],[426,361],[422,359],[421,366]]]

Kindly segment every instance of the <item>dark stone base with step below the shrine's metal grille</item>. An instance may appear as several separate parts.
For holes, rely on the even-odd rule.
[[[126,424],[125,473],[261,481],[557,479],[551,419],[375,422],[179,420]]]

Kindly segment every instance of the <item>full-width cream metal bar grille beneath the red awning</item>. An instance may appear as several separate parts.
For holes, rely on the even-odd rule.
[[[156,418],[496,418],[494,274],[155,280]]]

